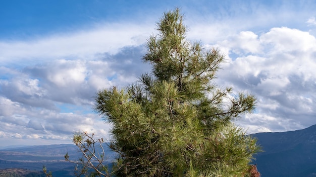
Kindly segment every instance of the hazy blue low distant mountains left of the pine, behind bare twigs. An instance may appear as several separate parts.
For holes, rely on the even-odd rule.
[[[106,144],[103,147],[111,160],[114,153]],[[16,176],[20,176],[19,173],[22,171],[24,174],[29,172],[29,176],[35,176],[34,170],[41,172],[42,167],[46,166],[48,171],[52,171],[53,176],[74,176],[75,164],[65,161],[64,155],[67,152],[70,159],[74,160],[82,155],[73,144],[4,148],[0,150],[0,174],[16,172]]]

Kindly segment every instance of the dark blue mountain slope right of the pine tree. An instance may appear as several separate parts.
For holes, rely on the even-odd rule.
[[[316,176],[316,125],[302,130],[256,133],[264,152],[255,156],[262,177]]]

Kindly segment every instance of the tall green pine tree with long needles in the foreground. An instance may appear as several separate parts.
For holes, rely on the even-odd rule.
[[[186,39],[179,9],[164,14],[147,41],[152,66],[122,89],[100,90],[95,110],[113,124],[116,176],[250,176],[256,140],[233,124],[253,95],[214,82],[225,60]]]

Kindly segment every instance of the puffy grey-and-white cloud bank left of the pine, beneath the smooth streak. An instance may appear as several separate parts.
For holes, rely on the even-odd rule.
[[[0,78],[0,126],[4,138],[66,140],[76,131],[109,138],[111,126],[92,113],[101,88],[125,86],[142,72],[143,45],[125,46],[94,59],[56,59],[21,69],[5,67]],[[4,74],[5,75],[5,74]]]

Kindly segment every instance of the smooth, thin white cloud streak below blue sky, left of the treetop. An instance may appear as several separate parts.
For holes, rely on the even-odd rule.
[[[45,62],[56,58],[92,58],[115,54],[122,46],[146,41],[154,24],[104,24],[90,31],[56,34],[30,41],[0,41],[0,64]]]

